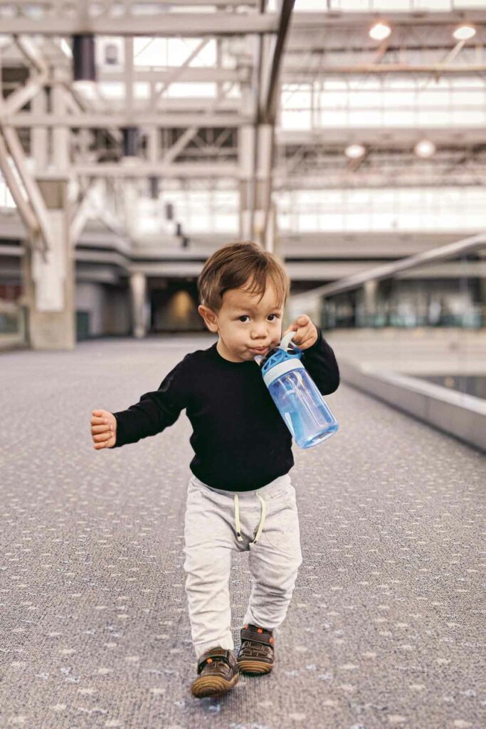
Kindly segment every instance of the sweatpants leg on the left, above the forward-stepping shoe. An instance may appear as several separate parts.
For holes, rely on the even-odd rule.
[[[218,496],[189,483],[184,520],[185,590],[196,657],[216,646],[232,650],[230,569],[235,532]]]

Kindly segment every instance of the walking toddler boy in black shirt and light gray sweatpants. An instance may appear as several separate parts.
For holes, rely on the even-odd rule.
[[[292,437],[264,384],[257,354],[282,338],[290,281],[272,254],[233,243],[206,261],[198,308],[218,341],[184,357],[158,390],[119,413],[93,410],[94,448],[118,448],[160,433],[186,409],[192,424],[184,523],[185,589],[197,677],[192,695],[221,695],[244,674],[273,668],[275,628],[286,616],[302,563],[289,470]],[[287,332],[323,394],[340,381],[332,348],[308,316]],[[286,332],[285,332],[286,333]],[[251,596],[232,653],[228,582],[232,550],[249,551]]]

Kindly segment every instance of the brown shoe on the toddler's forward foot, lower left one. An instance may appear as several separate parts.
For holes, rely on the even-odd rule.
[[[197,661],[197,679],[191,692],[196,698],[222,696],[238,683],[238,663],[231,650],[210,648]]]

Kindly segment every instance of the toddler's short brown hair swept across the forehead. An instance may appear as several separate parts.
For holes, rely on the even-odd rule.
[[[290,278],[277,258],[256,243],[230,243],[215,251],[205,262],[197,279],[201,304],[216,313],[222,307],[223,294],[228,289],[240,289],[251,279],[250,293],[264,296],[267,278],[278,294],[278,305],[285,303],[290,290]]]

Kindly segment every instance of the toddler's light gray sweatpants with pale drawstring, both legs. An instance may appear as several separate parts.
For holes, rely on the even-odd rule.
[[[255,491],[211,488],[192,475],[184,523],[185,589],[197,658],[217,645],[232,650],[232,550],[249,551],[253,578],[243,624],[283,623],[302,564],[295,489],[289,474]]]

